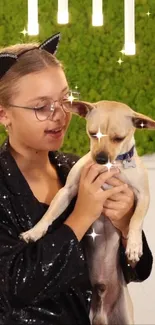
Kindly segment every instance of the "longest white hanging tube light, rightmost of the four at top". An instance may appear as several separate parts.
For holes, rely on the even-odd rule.
[[[134,55],[135,44],[135,0],[124,0],[124,54]]]

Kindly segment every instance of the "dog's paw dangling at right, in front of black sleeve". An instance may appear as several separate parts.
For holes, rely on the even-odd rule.
[[[128,260],[138,262],[143,255],[142,232],[139,230],[130,230],[126,247]]]

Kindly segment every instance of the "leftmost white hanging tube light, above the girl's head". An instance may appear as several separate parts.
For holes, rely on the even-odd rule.
[[[28,0],[28,35],[39,34],[38,0]]]

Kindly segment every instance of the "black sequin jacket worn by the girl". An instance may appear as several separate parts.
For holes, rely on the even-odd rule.
[[[19,240],[48,206],[39,202],[8,149],[0,149],[0,325],[89,325],[92,287],[84,252],[72,229],[63,224],[76,198],[36,243]],[[62,185],[79,157],[50,152]],[[84,238],[84,237],[83,237]],[[127,282],[145,280],[152,254],[143,234],[143,256],[135,269],[120,262]]]

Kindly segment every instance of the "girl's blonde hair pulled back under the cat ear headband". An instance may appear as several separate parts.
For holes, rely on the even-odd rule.
[[[13,96],[18,93],[18,81],[21,77],[39,72],[49,66],[60,67],[62,63],[52,54],[37,47],[38,43],[16,44],[5,47],[0,53],[13,53],[19,56],[17,62],[0,79],[0,105],[7,107]]]

